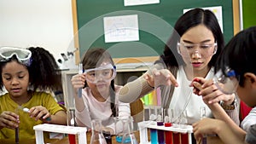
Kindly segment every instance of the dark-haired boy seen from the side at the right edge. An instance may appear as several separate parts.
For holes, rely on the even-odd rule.
[[[202,84],[203,88],[218,87],[226,94],[236,92],[241,101],[247,106],[256,106],[256,26],[239,32],[226,45],[220,55],[212,81]],[[200,94],[208,93],[203,89]],[[204,100],[213,100],[211,95],[205,95]],[[216,100],[216,99],[215,99]],[[208,104],[208,106],[211,104]],[[204,118],[193,124],[197,140],[203,135],[217,134],[224,143],[256,143],[256,124],[251,125],[246,132],[234,124],[232,120],[219,108],[218,103],[212,103],[212,112],[217,119]]]

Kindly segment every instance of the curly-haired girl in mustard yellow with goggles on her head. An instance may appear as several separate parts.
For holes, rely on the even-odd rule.
[[[58,66],[43,48],[0,48],[0,139],[34,138],[37,124],[67,124],[66,112],[44,90],[57,88]],[[38,91],[39,90],[39,91]]]

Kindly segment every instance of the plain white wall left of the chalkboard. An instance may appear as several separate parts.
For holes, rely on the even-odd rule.
[[[40,46],[56,59],[73,50],[70,0],[0,0],[0,47]]]

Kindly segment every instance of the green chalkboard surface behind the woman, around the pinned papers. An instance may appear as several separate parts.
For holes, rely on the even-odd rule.
[[[124,6],[123,0],[77,0],[80,56],[91,47],[108,49],[113,58],[157,56],[164,49],[183,9],[222,6],[225,42],[233,37],[232,0],[160,0],[160,3]],[[103,18],[138,15],[139,40],[105,43]]]

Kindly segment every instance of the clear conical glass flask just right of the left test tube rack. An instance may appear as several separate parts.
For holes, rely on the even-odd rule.
[[[102,134],[102,120],[94,119],[91,121],[90,144],[107,144]]]

